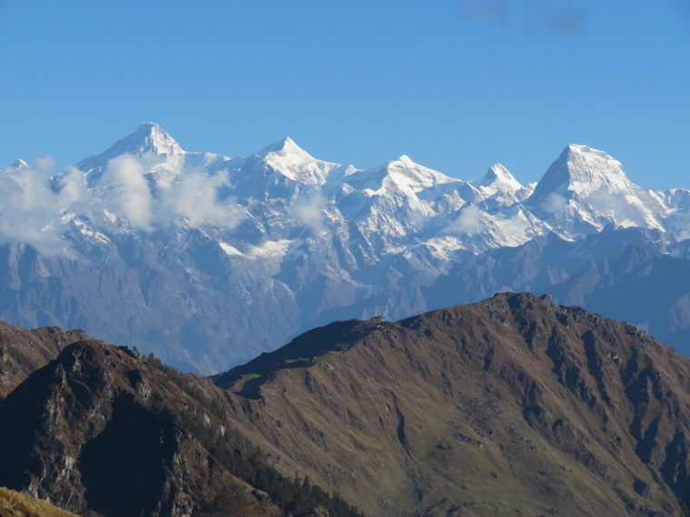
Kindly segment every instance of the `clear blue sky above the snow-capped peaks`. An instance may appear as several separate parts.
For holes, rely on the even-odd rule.
[[[568,143],[690,188],[687,0],[0,0],[0,167],[158,122],[229,156],[538,180]]]

